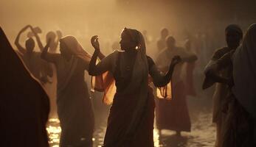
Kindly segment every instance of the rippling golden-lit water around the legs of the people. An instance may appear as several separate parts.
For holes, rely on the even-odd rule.
[[[212,125],[211,113],[198,113],[197,119],[192,121],[192,131],[182,132],[177,137],[175,132],[162,130],[161,137],[157,129],[153,130],[153,141],[155,147],[212,147],[215,146],[215,126]],[[96,127],[92,138],[94,147],[103,145],[105,135],[105,123]],[[60,121],[58,118],[51,118],[46,128],[49,135],[49,145],[58,147],[60,143]]]

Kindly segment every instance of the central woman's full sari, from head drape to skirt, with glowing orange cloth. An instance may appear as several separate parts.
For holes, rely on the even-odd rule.
[[[134,66],[129,71],[131,79],[128,83],[117,84],[115,80],[119,80],[120,75],[109,71],[92,79],[93,89],[105,92],[103,102],[112,104],[103,146],[153,147],[154,101],[152,90],[148,87],[145,42],[140,32],[134,29],[126,31],[131,33],[132,37],[139,38]],[[113,60],[120,62],[119,66],[114,66],[114,70],[123,69],[122,53],[115,51],[111,56]],[[120,85],[125,88],[121,90]]]

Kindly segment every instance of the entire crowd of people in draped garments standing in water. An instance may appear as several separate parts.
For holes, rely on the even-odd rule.
[[[26,29],[31,32],[23,47],[19,37]],[[44,46],[38,36],[40,32],[40,28],[30,25],[21,29],[15,39],[18,51],[12,49],[3,31],[0,43],[9,57],[1,57],[1,60],[16,65],[12,65],[12,69],[4,66],[10,79],[3,81],[12,82],[8,87],[17,91],[13,92],[13,98],[18,96],[25,102],[30,101],[29,104],[33,105],[31,109],[34,109],[30,111],[35,111],[31,114],[28,108],[23,110],[35,121],[17,122],[20,127],[27,123],[27,126],[31,124],[39,128],[30,129],[30,133],[24,136],[35,138],[32,146],[48,146],[45,127],[49,97],[56,98],[61,127],[60,146],[93,146],[94,109],[89,89],[102,92],[103,103],[111,104],[104,147],[153,147],[155,114],[159,135],[162,129],[173,130],[177,136],[191,131],[186,98],[197,95],[193,72],[200,64],[198,62],[203,62],[205,58],[203,51],[195,49],[196,43],[193,44],[190,35],[184,46],[178,46],[176,37],[169,35],[168,29],[162,29],[155,46],[157,56],[150,57],[146,48],[150,41],[145,31],[124,28],[120,46],[116,42],[113,45],[119,50],[113,49],[108,55],[103,54],[97,35],[91,37],[94,48],[91,55],[76,37],[62,37],[60,31],[47,33]],[[255,146],[256,24],[249,26],[245,35],[240,26],[230,24],[225,29],[225,35],[226,47],[217,49],[212,55],[204,69],[202,85],[203,89],[207,89],[216,83],[212,112],[217,130],[215,146]],[[33,38],[40,51],[34,51]],[[12,79],[17,70],[23,70],[24,76]],[[85,82],[85,71],[91,76],[91,83]],[[18,93],[23,90],[27,92]],[[3,97],[7,97],[7,91]],[[22,104],[24,102],[19,107]],[[11,104],[7,106],[12,107]],[[4,108],[6,111],[7,106]],[[8,114],[4,118],[7,119]],[[10,133],[4,133],[7,134],[6,145],[11,145]],[[30,144],[26,140],[22,143],[21,146]]]

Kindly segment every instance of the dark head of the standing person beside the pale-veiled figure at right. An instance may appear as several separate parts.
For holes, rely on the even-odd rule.
[[[237,49],[243,38],[243,31],[240,26],[230,24],[225,29],[226,44],[230,49]]]

